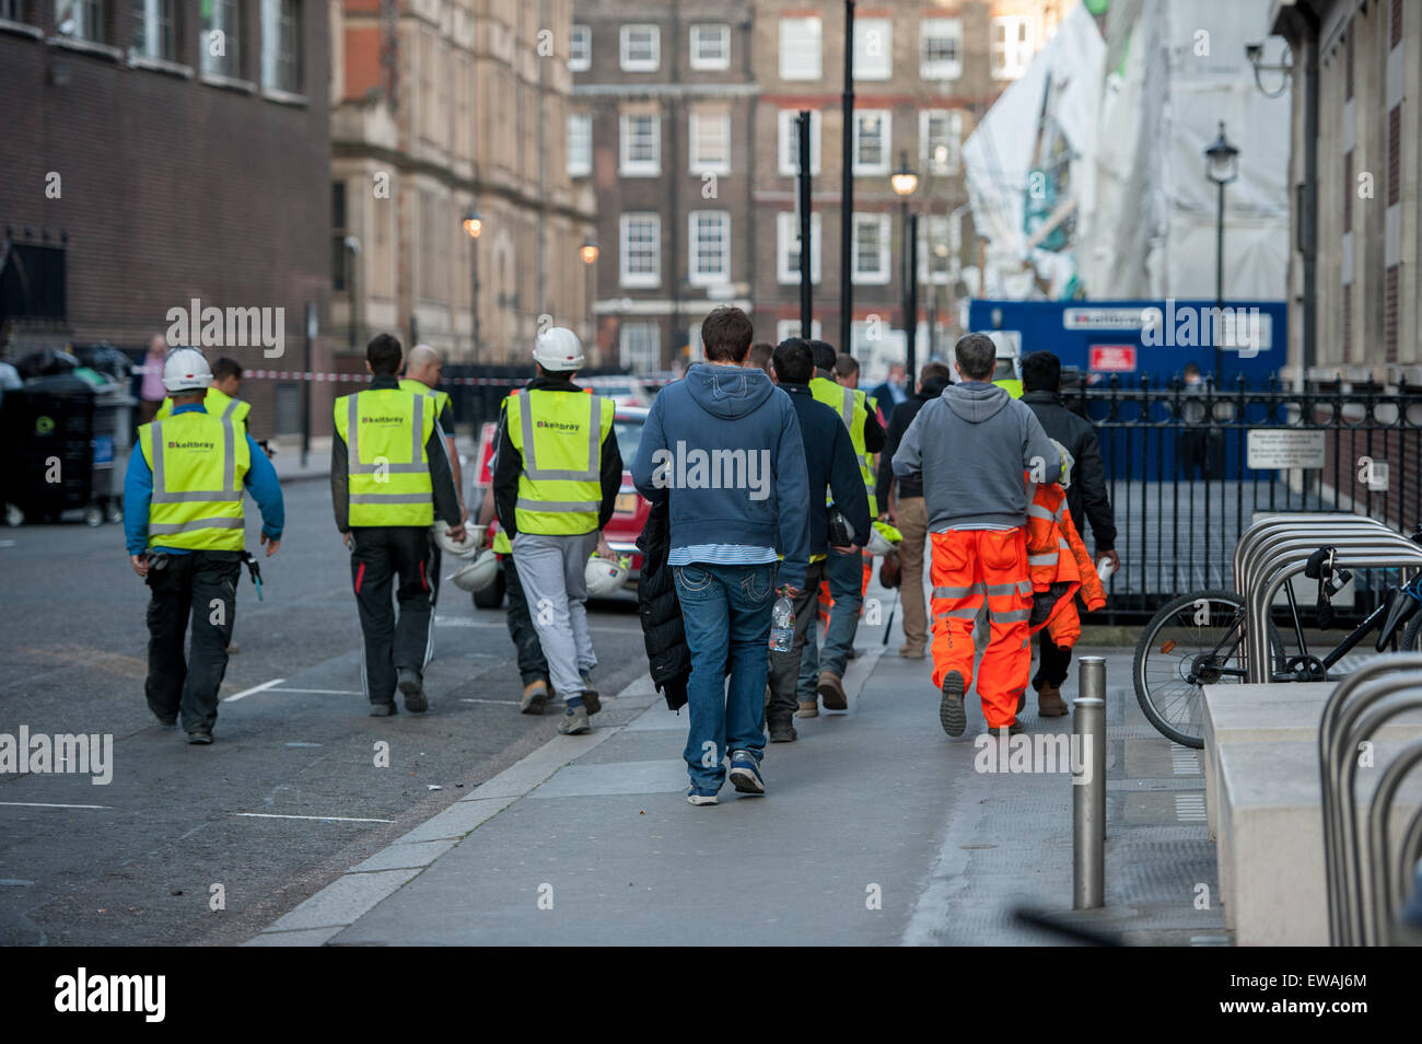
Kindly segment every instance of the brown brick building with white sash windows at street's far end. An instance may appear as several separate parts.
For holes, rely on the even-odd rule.
[[[902,357],[902,223],[890,174],[919,175],[919,357],[957,333],[957,273],[974,262],[958,148],[1021,75],[1065,3],[867,0],[856,10],[852,350]],[[812,112],[813,317],[839,339],[842,4],[802,0],[574,13],[569,159],[599,198],[599,340],[621,364],[694,358],[701,319],[729,302],[757,336],[799,330],[793,117]],[[937,323],[934,324],[934,316]]]

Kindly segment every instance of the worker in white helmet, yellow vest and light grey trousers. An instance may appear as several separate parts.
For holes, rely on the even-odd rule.
[[[557,731],[586,733],[602,708],[587,633],[587,559],[611,558],[602,529],[621,489],[621,452],[610,398],[573,384],[583,346],[556,326],[533,347],[538,377],[505,400],[495,442],[493,506],[508,533],[553,686]],[[522,710],[522,708],[520,708]]]

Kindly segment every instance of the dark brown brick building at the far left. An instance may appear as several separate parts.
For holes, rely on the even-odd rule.
[[[6,297],[6,353],[141,348],[198,299],[283,309],[282,357],[209,356],[328,368],[327,63],[326,9],[310,0],[0,0],[4,277],[30,247],[63,247],[48,289]],[[36,320],[26,302],[58,300],[61,273],[60,314]],[[253,432],[299,432],[306,390],[249,381]],[[330,394],[313,385],[317,434]]]

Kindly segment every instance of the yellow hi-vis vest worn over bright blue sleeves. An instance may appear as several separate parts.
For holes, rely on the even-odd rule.
[[[138,430],[154,474],[148,546],[242,550],[247,434],[230,412],[191,410]]]

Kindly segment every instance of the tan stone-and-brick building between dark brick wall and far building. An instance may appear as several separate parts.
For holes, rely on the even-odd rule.
[[[570,24],[570,0],[333,3],[343,354],[391,330],[447,361],[526,363],[543,316],[590,340],[593,202],[565,159]]]

